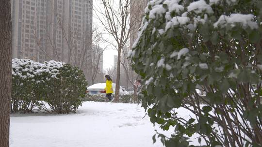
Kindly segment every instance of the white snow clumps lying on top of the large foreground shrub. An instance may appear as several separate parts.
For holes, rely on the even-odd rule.
[[[138,37],[133,44],[133,48],[137,45],[138,40],[142,36],[142,32],[147,29],[148,24],[151,21],[157,20],[161,16],[165,16],[165,27],[160,30],[160,34],[164,31],[172,29],[174,27],[180,27],[181,29],[189,29],[190,31],[195,30],[197,25],[205,24],[206,21],[211,21],[209,16],[214,13],[213,5],[222,4],[223,0],[198,0],[190,3],[189,5],[181,5],[181,0],[151,0],[147,4],[145,9],[146,15],[143,18],[144,23],[141,25],[141,29],[138,33]],[[226,0],[228,5],[236,4],[237,0]],[[193,13],[193,14],[192,14]],[[159,17],[158,17],[159,16]],[[231,14],[221,15],[213,23],[213,28],[225,28],[226,26],[235,27],[239,24],[243,29],[247,27],[250,29],[258,29],[258,24],[254,20],[252,14]],[[152,31],[152,34],[155,32]],[[158,31],[159,32],[159,31]],[[191,33],[189,33],[191,35]]]

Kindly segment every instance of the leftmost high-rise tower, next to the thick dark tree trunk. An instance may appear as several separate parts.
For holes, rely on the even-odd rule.
[[[46,34],[47,0],[11,0],[11,4],[13,58],[41,61],[44,54],[39,54],[39,48],[45,41],[39,43],[35,38]]]

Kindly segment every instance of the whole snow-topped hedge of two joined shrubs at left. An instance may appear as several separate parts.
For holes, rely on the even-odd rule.
[[[81,70],[57,61],[38,63],[12,59],[12,111],[32,111],[45,103],[56,113],[75,112],[85,96],[86,81]]]

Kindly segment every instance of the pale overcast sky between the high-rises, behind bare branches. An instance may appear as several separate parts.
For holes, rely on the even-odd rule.
[[[93,0],[93,7],[98,7],[99,5],[102,5],[102,2],[101,0]],[[93,9],[93,26],[96,25],[98,26],[99,28],[103,29],[101,23],[99,22],[99,20],[97,19],[97,15],[96,13],[94,12],[94,9]],[[106,38],[111,38],[111,36],[107,35],[104,37]],[[114,48],[106,43],[104,44],[99,44],[99,46],[105,48],[106,46],[106,50],[104,51],[103,53],[103,70],[105,71],[106,69],[108,68],[113,68],[113,65],[114,65],[114,55],[117,55],[117,51],[114,50]]]

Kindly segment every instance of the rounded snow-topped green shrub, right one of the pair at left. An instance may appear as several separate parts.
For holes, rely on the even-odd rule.
[[[87,82],[82,70],[63,62],[44,62],[41,69],[34,72],[41,101],[57,114],[76,112],[85,97]],[[45,104],[41,106],[48,111]]]

